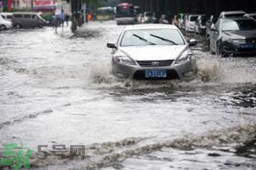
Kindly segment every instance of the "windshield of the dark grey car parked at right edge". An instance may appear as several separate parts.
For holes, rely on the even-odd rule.
[[[246,31],[255,30],[256,22],[251,20],[225,20],[222,23],[222,31]]]

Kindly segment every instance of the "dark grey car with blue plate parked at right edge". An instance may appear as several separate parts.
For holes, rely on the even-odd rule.
[[[256,54],[256,22],[251,18],[219,19],[210,34],[210,52],[221,57]]]

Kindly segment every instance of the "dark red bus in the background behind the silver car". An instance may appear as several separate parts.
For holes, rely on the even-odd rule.
[[[135,24],[135,10],[131,3],[120,3],[115,6],[115,20],[117,25]]]

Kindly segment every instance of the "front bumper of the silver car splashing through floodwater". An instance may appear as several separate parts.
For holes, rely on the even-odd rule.
[[[146,70],[166,70],[167,76],[165,78],[146,78]],[[172,63],[171,66],[163,67],[142,67],[139,65],[122,65],[112,59],[112,71],[115,76],[119,78],[149,80],[149,79],[180,79],[191,80],[196,74],[196,60],[192,59],[180,64]]]

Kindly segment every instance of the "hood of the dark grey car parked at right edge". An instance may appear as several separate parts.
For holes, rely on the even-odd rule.
[[[256,38],[256,31],[226,31],[223,32],[225,37],[231,37],[232,39],[250,39]]]

